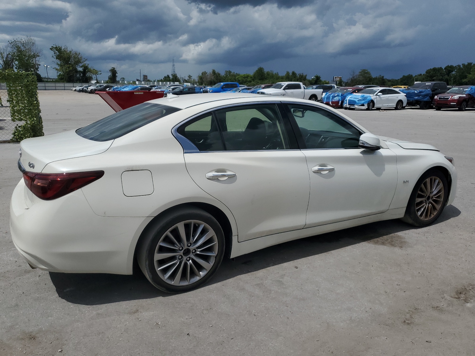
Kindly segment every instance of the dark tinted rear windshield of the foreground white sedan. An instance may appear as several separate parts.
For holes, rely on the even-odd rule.
[[[180,110],[172,106],[142,103],[77,129],[76,133],[92,141],[114,140]]]

